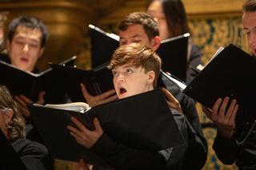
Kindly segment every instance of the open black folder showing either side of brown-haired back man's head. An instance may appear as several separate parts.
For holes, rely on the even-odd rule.
[[[116,34],[108,34],[98,27],[89,26],[91,38],[92,67],[102,65],[111,60],[115,49],[119,47],[119,37]],[[186,57],[187,45],[190,34],[183,34],[161,42],[157,49],[162,59],[162,69],[174,74],[182,81],[186,81]]]

